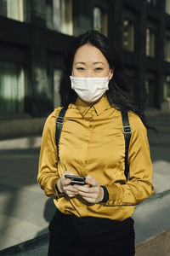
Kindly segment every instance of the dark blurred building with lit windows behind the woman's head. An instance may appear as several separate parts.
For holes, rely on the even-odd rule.
[[[111,39],[139,96],[146,87],[146,109],[163,109],[170,97],[170,0],[0,0],[1,138],[24,135],[24,124],[59,106],[67,45],[92,27]]]

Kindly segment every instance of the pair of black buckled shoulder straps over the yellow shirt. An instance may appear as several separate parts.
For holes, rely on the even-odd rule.
[[[59,116],[56,118],[56,129],[55,129],[55,141],[56,141],[56,147],[57,147],[57,155],[59,159],[59,139],[63,127],[63,123],[65,120],[65,112],[67,108],[62,108],[59,112]],[[129,167],[128,167],[128,162],[127,162],[127,157],[128,157],[128,147],[130,143],[130,137],[131,137],[131,126],[129,125],[129,120],[128,120],[128,114],[127,111],[122,112],[122,132],[125,137],[125,171],[124,174],[128,179],[128,173],[129,173]]]

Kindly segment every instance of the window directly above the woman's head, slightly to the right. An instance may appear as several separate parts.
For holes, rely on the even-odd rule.
[[[94,7],[94,28],[107,36],[108,15],[105,10]]]

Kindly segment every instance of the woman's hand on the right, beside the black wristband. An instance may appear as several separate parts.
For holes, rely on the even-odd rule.
[[[104,189],[100,187],[95,178],[88,175],[86,177],[86,183],[87,185],[84,186],[73,186],[77,189],[78,195],[81,195],[89,203],[97,204],[99,201],[102,201],[104,198]]]

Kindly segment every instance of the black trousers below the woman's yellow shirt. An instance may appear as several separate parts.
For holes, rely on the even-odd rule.
[[[59,210],[49,224],[48,256],[133,256],[133,219],[66,215]]]

